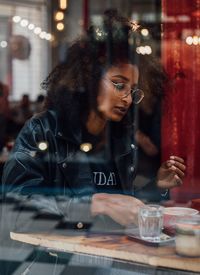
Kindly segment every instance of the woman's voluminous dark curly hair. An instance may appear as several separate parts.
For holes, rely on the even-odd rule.
[[[91,26],[68,48],[65,62],[56,66],[43,81],[42,88],[48,92],[47,108],[56,108],[63,117],[74,115],[86,121],[89,111],[97,108],[99,82],[106,70],[120,63],[139,62],[135,50],[136,35],[131,21],[116,11],[106,11],[103,28]],[[145,85],[148,87],[146,79],[152,78],[147,77],[146,65],[141,64],[140,86],[145,88]],[[154,71],[157,68],[151,67]],[[159,82],[162,74],[154,79]]]

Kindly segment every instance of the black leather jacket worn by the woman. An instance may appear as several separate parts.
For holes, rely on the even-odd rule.
[[[91,221],[90,200],[95,187],[87,153],[80,150],[81,141],[80,127],[73,123],[63,127],[55,111],[33,117],[17,137],[5,165],[4,190],[20,194],[25,201],[48,195],[48,202],[38,202],[38,208],[50,208],[69,221]],[[42,142],[47,148],[41,147]],[[131,135],[121,133],[111,142],[123,193],[133,194],[135,146]]]

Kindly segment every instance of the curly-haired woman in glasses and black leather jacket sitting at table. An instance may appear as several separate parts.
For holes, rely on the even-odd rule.
[[[134,106],[144,97],[135,32],[130,22],[106,16],[105,28],[90,28],[43,82],[47,111],[26,123],[3,175],[7,192],[25,200],[48,195],[39,207],[79,228],[98,218],[137,223],[143,205],[132,186]],[[157,174],[161,192],[181,185],[184,170],[184,160],[171,156]]]

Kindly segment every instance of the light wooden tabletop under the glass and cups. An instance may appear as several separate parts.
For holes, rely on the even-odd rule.
[[[55,251],[83,253],[123,260],[127,263],[145,264],[150,267],[163,267],[200,274],[200,258],[176,255],[174,244],[151,247],[120,235],[79,235],[65,236],[14,233],[11,239],[41,246]],[[175,274],[175,273],[173,273]],[[180,274],[180,273],[178,273]]]

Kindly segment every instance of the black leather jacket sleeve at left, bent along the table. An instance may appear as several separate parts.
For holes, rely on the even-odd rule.
[[[45,150],[40,142],[47,145]],[[34,207],[40,213],[64,217],[69,222],[91,222],[90,195],[74,196],[69,190],[64,195],[51,193],[52,173],[56,173],[55,154],[48,148],[49,140],[40,122],[32,119],[20,132],[3,172],[4,200],[18,202],[20,213]],[[52,146],[52,145],[51,145]],[[24,220],[23,220],[24,221]],[[20,215],[16,215],[15,229],[23,230]]]

